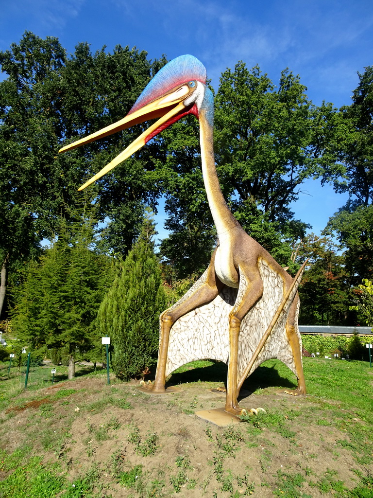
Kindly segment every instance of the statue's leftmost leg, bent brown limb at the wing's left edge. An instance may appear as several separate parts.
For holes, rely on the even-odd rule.
[[[190,295],[187,292],[186,299],[182,298],[179,306],[164,311],[160,316],[160,346],[157,372],[152,387],[153,392],[165,391],[166,364],[171,327],[179,318],[186,315],[189,311],[211,302],[219,293],[221,284],[219,281],[216,281],[213,260],[214,255],[207,269],[206,280],[199,287],[193,289]]]

